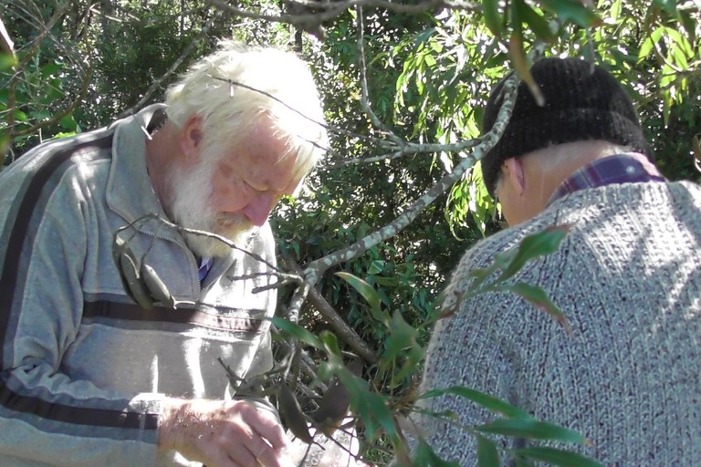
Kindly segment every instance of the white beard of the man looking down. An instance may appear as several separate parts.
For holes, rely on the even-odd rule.
[[[242,214],[214,213],[210,197],[214,163],[207,163],[202,154],[193,170],[172,167],[168,186],[173,193],[171,215],[181,227],[216,233],[239,248],[246,246],[258,228]],[[199,257],[222,257],[231,254],[231,247],[221,240],[205,235],[183,233],[185,243]]]

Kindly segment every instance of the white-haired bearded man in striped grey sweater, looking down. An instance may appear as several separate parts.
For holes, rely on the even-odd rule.
[[[232,398],[217,358],[272,367],[267,217],[319,160],[323,119],[298,57],[223,43],[164,104],[2,172],[0,465],[291,464],[275,411]],[[176,306],[137,303],[125,262]]]

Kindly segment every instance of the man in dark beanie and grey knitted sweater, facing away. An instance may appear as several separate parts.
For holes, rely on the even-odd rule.
[[[667,182],[631,99],[603,67],[544,58],[524,83],[504,135],[485,155],[487,190],[509,228],[471,248],[445,290],[422,391],[466,386],[589,440],[574,449],[604,465],[695,465],[701,459],[701,189]],[[502,80],[487,101],[495,124]],[[539,285],[571,332],[520,296],[464,298],[470,272],[528,234],[570,232],[514,282]],[[446,461],[476,463],[477,426],[497,415],[456,396],[425,400],[427,442]],[[462,425],[462,426],[461,426]],[[506,449],[532,441],[507,438]]]

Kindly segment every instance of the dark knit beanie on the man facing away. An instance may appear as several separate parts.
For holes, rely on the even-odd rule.
[[[631,99],[623,87],[602,67],[577,58],[543,58],[531,68],[545,97],[539,107],[525,83],[518,85],[518,97],[507,130],[497,145],[482,158],[487,191],[494,197],[501,165],[530,151],[581,140],[607,140],[642,152],[652,153]],[[483,133],[494,126],[503,98],[502,79],[487,101]]]

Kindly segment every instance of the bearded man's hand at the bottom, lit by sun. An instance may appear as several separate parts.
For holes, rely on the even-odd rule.
[[[207,467],[291,467],[288,441],[272,413],[242,400],[170,400],[158,446]]]

